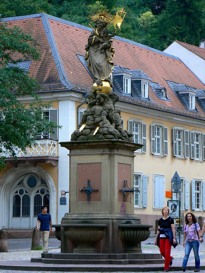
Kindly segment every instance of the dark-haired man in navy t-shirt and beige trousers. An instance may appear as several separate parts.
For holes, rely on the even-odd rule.
[[[38,215],[37,218],[37,230],[39,230],[39,222],[40,224],[40,233],[41,233],[41,238],[43,241],[43,252],[48,252],[48,237],[49,237],[49,232],[52,232],[52,221],[51,221],[51,216],[49,213],[47,213],[47,207],[42,206],[41,207],[42,213]]]

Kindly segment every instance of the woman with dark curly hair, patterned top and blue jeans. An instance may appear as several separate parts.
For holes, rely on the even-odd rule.
[[[199,224],[196,222],[196,217],[193,213],[188,212],[185,216],[184,225],[184,239],[183,247],[185,247],[185,256],[183,260],[183,265],[181,267],[182,271],[186,271],[186,265],[189,259],[191,249],[193,248],[195,257],[195,270],[194,272],[200,271],[200,258],[199,258],[199,238],[201,235]],[[186,242],[185,242],[186,240]]]

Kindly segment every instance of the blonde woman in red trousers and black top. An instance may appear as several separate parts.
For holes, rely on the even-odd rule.
[[[165,258],[164,272],[169,271],[173,257],[171,254],[172,244],[176,244],[174,220],[169,216],[169,207],[162,207],[163,217],[159,219],[158,231],[155,238],[155,245],[159,244],[159,250]]]

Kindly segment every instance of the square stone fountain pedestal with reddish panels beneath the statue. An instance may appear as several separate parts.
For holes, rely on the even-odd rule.
[[[129,194],[125,202],[121,190],[125,180],[129,188],[133,187],[134,151],[142,145],[121,140],[60,145],[70,150],[69,215],[61,221],[61,252],[73,253],[77,247],[77,241],[65,235],[70,224],[106,224],[105,234],[94,242],[94,248],[97,253],[123,253],[125,242],[120,237],[119,225],[127,221],[140,224],[140,218],[134,214],[133,195]],[[147,227],[149,230],[151,225]],[[136,244],[140,252],[141,243]]]

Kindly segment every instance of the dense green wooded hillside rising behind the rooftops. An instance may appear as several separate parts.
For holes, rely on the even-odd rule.
[[[159,50],[173,40],[199,46],[205,38],[205,0],[0,0],[3,18],[45,12],[86,26],[98,10],[115,15],[122,7],[121,37]]]

